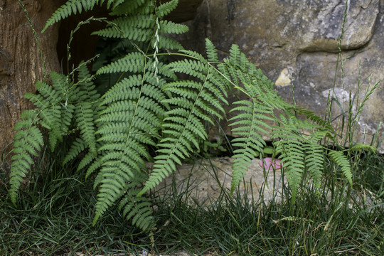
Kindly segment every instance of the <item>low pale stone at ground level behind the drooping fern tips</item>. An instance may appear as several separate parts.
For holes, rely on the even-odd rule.
[[[259,164],[260,159],[254,159],[244,176],[244,182],[240,182],[238,192],[240,196],[247,193],[248,198],[259,198],[260,189],[263,188],[264,201],[270,201],[276,191],[281,191],[281,171],[269,171]],[[195,164],[183,164],[178,166],[174,176],[169,176],[156,187],[160,194],[166,193],[171,184],[176,184],[179,193],[186,192],[188,198],[198,200],[200,203],[210,205],[220,196],[221,189],[230,191],[232,181],[233,159],[229,157],[199,160]],[[173,183],[175,181],[175,183]],[[251,193],[252,186],[252,193]],[[275,191],[274,191],[275,190]]]

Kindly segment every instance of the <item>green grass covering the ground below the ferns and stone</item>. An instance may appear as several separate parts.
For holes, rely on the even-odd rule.
[[[10,203],[1,174],[0,255],[138,255],[152,249],[197,255],[384,254],[384,159],[377,154],[356,153],[353,187],[336,175],[334,165],[326,166],[320,193],[306,186],[294,206],[287,188],[270,202],[223,190],[207,207],[187,203],[193,184],[181,193],[169,187],[167,200],[154,196],[153,248],[150,235],[114,209],[92,227],[92,183],[59,162],[48,156],[36,165],[18,208]]]

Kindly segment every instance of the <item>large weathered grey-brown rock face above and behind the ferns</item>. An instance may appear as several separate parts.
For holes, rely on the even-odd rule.
[[[187,25],[190,32],[181,38],[186,48],[203,52],[203,39],[208,37],[225,57],[230,46],[238,44],[275,82],[284,100],[293,102],[294,85],[297,105],[323,117],[330,90],[339,102],[332,105],[333,117],[338,117],[348,112],[350,92],[356,96],[352,108],[356,111],[368,84],[384,78],[383,0],[348,1],[347,8],[346,1],[337,0],[205,0]],[[343,79],[338,48],[341,58],[347,59]],[[354,139],[369,144],[376,132],[383,133],[384,125],[379,127],[384,121],[383,106],[383,84],[379,84],[364,105]],[[340,125],[338,117],[334,126]],[[376,140],[384,151],[383,139]]]

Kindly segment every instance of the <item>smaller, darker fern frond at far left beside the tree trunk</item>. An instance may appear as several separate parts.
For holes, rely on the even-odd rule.
[[[33,164],[31,156],[37,156],[43,145],[42,132],[38,125],[48,131],[51,151],[54,151],[58,142],[62,142],[63,138],[70,133],[73,122],[78,125],[76,129],[80,129],[82,138],[73,142],[64,163],[75,159],[85,149],[89,149],[94,155],[96,153],[96,139],[92,127],[95,126],[97,116],[94,105],[99,95],[95,92],[92,82],[87,80],[90,74],[85,65],[80,64],[78,70],[80,81],[77,84],[65,75],[52,72],[50,78],[53,85],[37,81],[38,93],[27,92],[24,95],[33,102],[36,109],[23,112],[21,121],[15,126],[18,132],[14,138],[10,181],[10,195],[13,203],[16,203],[22,178],[26,176]],[[92,102],[94,105],[91,105]]]

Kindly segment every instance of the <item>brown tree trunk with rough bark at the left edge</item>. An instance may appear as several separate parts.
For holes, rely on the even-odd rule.
[[[40,31],[63,1],[22,2],[36,30],[42,56],[21,4],[16,0],[0,0],[0,152],[12,142],[14,124],[21,112],[31,107],[23,94],[33,92],[36,80],[44,79],[43,61],[47,75],[52,70],[60,70],[56,53],[58,25],[51,26],[43,34]],[[8,146],[1,159],[10,149]]]

